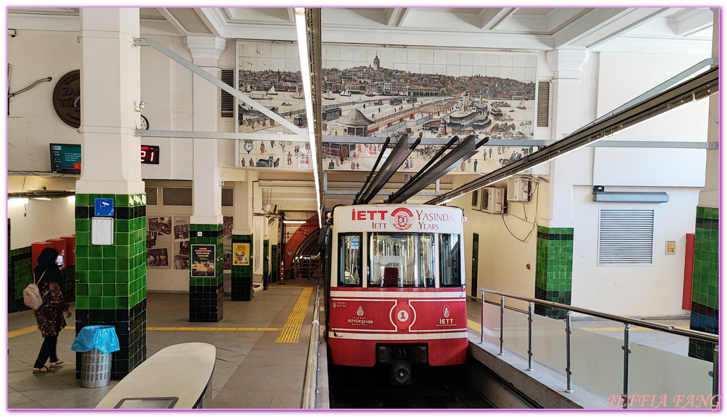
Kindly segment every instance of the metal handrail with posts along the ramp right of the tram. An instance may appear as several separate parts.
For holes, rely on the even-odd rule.
[[[624,346],[622,346],[622,349],[624,350],[624,384],[623,384],[623,394],[621,395],[622,401],[623,401],[623,407],[629,408],[629,354],[631,353],[629,349],[629,343],[630,343],[630,333],[631,333],[631,325],[638,325],[640,327],[646,327],[648,329],[652,330],[658,330],[666,333],[673,333],[676,335],[682,335],[687,336],[690,338],[696,338],[701,341],[708,341],[711,343],[714,343],[714,350],[713,350],[713,358],[712,358],[712,371],[710,371],[710,376],[712,377],[712,394],[713,398],[718,398],[719,394],[719,336],[718,335],[712,335],[710,333],[704,333],[699,332],[696,330],[687,330],[687,329],[681,329],[679,327],[674,327],[670,325],[662,325],[655,322],[648,322],[646,320],[641,319],[634,319],[631,317],[624,317],[619,316],[615,314],[608,314],[603,313],[601,311],[594,311],[590,309],[583,309],[581,307],[576,306],[569,306],[568,304],[562,304],[562,303],[555,303],[554,301],[545,301],[545,300],[539,300],[537,298],[531,298],[526,297],[523,295],[514,295],[514,294],[508,294],[508,293],[502,293],[495,290],[488,290],[486,288],[480,288],[479,289],[482,293],[482,309],[481,309],[481,317],[480,317],[480,343],[484,343],[485,341],[485,332],[484,332],[484,310],[485,310],[485,293],[499,295],[500,296],[500,302],[499,302],[499,309],[500,309],[500,334],[499,334],[499,354],[504,355],[504,344],[505,344],[505,338],[504,338],[504,316],[505,316],[505,297],[509,298],[515,298],[516,300],[521,301],[527,301],[529,303],[529,309],[528,309],[528,369],[529,371],[533,370],[533,306],[534,304],[540,304],[542,306],[551,306],[555,307],[557,309],[563,309],[567,311],[566,314],[566,389],[565,392],[571,393],[573,392],[573,389],[571,387],[571,311],[576,311],[578,313],[587,314],[589,316],[593,317],[601,317],[603,319],[609,319],[614,320],[616,322],[622,322],[624,323]],[[494,303],[492,301],[487,301],[487,303],[497,305],[497,303]],[[717,408],[719,405],[719,402],[712,401],[712,408]]]

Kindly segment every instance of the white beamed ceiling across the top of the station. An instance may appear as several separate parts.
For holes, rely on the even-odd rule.
[[[9,7],[8,28],[79,30],[78,8]],[[142,34],[294,41],[289,7],[140,9]],[[708,53],[713,13],[681,7],[324,7],[324,42]]]

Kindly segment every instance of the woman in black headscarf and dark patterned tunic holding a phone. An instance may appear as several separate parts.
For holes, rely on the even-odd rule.
[[[52,247],[46,247],[38,256],[38,266],[33,271],[36,285],[43,296],[43,305],[35,311],[38,329],[43,335],[43,345],[38,354],[33,373],[49,372],[54,370],[56,365],[63,363],[58,359],[56,345],[58,333],[65,327],[65,317],[71,317],[68,303],[63,301],[63,274],[59,266],[63,265],[63,258],[58,256],[58,251]],[[49,366],[45,365],[50,360]]]

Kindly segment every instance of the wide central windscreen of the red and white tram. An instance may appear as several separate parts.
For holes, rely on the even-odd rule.
[[[369,287],[434,287],[432,234],[370,234]]]

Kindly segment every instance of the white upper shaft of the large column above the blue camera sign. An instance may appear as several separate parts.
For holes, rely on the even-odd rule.
[[[142,194],[139,9],[82,7],[79,194]]]

